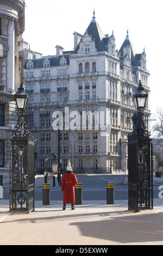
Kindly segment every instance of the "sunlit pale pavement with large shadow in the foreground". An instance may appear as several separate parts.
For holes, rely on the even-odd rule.
[[[163,178],[156,179],[163,190]],[[54,252],[70,254],[109,245],[163,245],[163,198],[153,203],[154,209],[135,212],[128,210],[128,200],[112,205],[84,200],[75,210],[67,204],[62,211],[62,201],[35,201],[35,210],[27,214],[9,211],[9,200],[0,199],[0,245],[53,245]],[[71,251],[61,251],[66,248]]]

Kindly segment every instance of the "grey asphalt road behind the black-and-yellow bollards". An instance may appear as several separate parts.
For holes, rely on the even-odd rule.
[[[163,178],[154,177],[153,198],[159,198],[159,186],[163,185]],[[122,184],[124,175],[79,175],[78,182],[83,184],[83,200],[106,200],[106,184],[107,182],[114,182],[114,198],[115,200],[128,199],[128,185]],[[35,200],[42,200],[42,184],[44,183],[43,176],[36,176],[35,178]],[[51,184],[51,200],[62,200],[61,187],[55,177],[55,187],[53,187],[53,180],[48,180]],[[4,199],[9,199],[9,186],[4,188]]]

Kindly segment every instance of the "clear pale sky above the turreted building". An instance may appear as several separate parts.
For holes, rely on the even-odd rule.
[[[163,106],[162,78],[162,0],[25,0],[26,25],[24,41],[30,49],[46,55],[56,54],[56,45],[73,50],[73,32],[84,34],[93,9],[104,34],[112,33],[116,49],[129,39],[136,53],[145,47],[150,76],[151,112]]]

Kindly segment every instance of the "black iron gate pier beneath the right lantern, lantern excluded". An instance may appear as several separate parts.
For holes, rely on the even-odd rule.
[[[153,209],[152,139],[129,138],[128,208]]]

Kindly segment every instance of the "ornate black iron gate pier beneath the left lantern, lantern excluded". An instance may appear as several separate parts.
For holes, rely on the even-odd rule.
[[[10,210],[34,210],[34,134],[11,139]],[[26,203],[26,206],[24,204]]]

